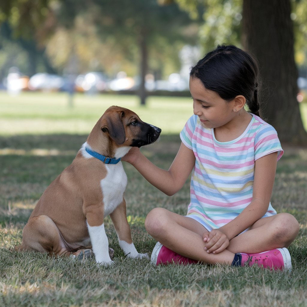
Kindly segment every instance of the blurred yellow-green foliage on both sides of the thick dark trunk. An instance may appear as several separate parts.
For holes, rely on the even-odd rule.
[[[192,18],[198,7],[204,7],[200,26],[200,44],[208,52],[221,43],[241,46],[243,0],[175,0]],[[307,2],[289,0],[295,36],[295,59],[300,67],[307,66]],[[265,6],[263,8],[265,10]]]

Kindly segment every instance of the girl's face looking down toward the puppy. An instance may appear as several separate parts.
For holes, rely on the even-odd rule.
[[[205,128],[226,125],[234,118],[234,102],[227,102],[215,91],[207,90],[200,79],[190,78],[193,111]]]

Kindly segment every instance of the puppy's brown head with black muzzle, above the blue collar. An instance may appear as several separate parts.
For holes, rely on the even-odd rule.
[[[109,148],[148,145],[155,142],[161,133],[160,128],[143,122],[133,111],[117,106],[104,112],[93,131],[95,134],[98,132],[98,138],[104,140],[104,144],[108,140]]]

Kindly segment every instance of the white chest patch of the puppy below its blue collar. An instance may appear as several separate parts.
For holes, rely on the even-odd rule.
[[[109,215],[122,202],[127,185],[127,175],[122,162],[106,165],[107,176],[100,181],[103,192],[104,216]]]

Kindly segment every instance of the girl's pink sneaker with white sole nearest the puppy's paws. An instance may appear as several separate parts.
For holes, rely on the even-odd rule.
[[[151,254],[151,263],[158,264],[195,264],[198,261],[181,256],[174,251],[171,251],[167,247],[163,246],[160,242],[157,242],[156,246],[153,248]]]

